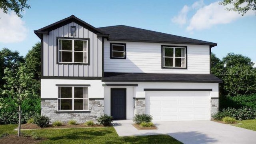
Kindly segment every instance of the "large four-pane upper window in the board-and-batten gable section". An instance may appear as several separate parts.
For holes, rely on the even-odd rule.
[[[88,41],[58,38],[58,62],[88,64]]]

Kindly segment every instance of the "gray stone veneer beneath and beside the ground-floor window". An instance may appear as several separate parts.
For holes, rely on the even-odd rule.
[[[88,120],[96,121],[96,118],[104,114],[104,99],[89,99],[89,110],[84,112],[57,112],[57,101],[41,100],[41,115],[51,118],[51,122],[76,120],[77,123],[84,123]]]

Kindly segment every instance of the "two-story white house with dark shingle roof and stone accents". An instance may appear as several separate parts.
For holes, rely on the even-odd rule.
[[[118,25],[95,28],[74,15],[34,31],[41,39],[41,114],[79,123],[102,114],[154,121],[210,120],[218,85],[216,43]]]

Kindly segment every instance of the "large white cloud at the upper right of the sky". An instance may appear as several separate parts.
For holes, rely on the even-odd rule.
[[[208,29],[214,25],[228,24],[243,17],[238,12],[225,10],[226,7],[230,8],[232,5],[222,6],[219,2],[214,2],[198,9],[196,14],[190,19],[190,24],[186,29],[188,31]],[[249,15],[254,15],[254,12],[250,10],[245,16]]]

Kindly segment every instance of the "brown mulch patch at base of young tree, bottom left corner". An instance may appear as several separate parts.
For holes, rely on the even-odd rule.
[[[38,144],[40,142],[42,142],[42,140],[35,140],[34,138],[26,136],[18,137],[14,134],[0,138],[0,144]]]

